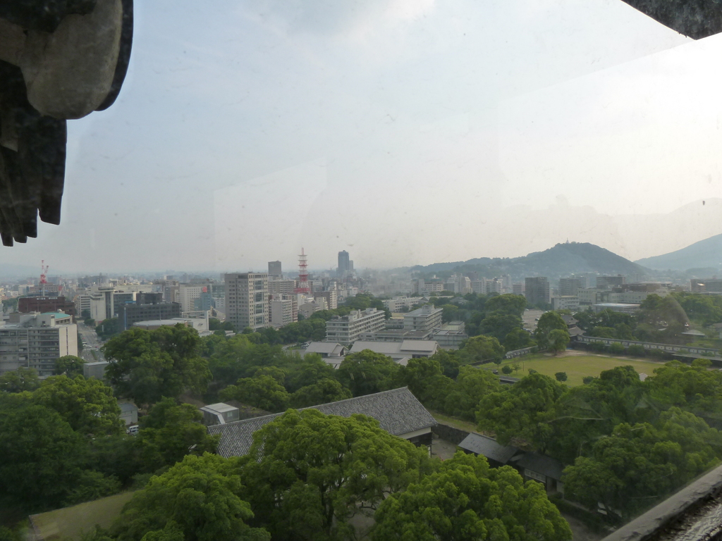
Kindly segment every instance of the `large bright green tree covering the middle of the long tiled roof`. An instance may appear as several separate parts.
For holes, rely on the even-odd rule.
[[[274,539],[342,540],[349,519],[430,470],[426,449],[365,415],[289,410],[253,434],[241,457],[244,499]]]

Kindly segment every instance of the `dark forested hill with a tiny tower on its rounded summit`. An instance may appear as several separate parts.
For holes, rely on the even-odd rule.
[[[510,274],[513,278],[535,275],[559,278],[569,276],[571,273],[623,275],[648,273],[648,269],[588,242],[558,244],[544,252],[533,252],[521,258],[477,258],[453,263],[417,265],[411,270],[423,273],[478,271],[487,278],[502,274]]]

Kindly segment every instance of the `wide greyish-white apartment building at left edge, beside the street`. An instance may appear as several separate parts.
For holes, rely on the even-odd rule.
[[[78,354],[78,327],[62,312],[14,312],[0,326],[0,374],[32,368],[38,377],[53,375],[55,361]]]

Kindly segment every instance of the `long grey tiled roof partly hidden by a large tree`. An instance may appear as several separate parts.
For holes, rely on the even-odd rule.
[[[436,424],[431,414],[406,387],[303,409],[316,409],[326,415],[341,415],[342,417],[362,413],[375,418],[381,428],[394,436],[402,436]],[[209,434],[221,435],[218,454],[226,458],[240,457],[248,453],[248,449],[251,449],[253,433],[279,415],[283,414],[275,413],[264,417],[233,421],[225,425],[209,426],[208,431]]]

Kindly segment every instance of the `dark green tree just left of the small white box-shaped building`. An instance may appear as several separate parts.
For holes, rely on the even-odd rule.
[[[218,436],[211,436],[199,421],[201,412],[191,404],[178,404],[165,398],[140,419],[135,436],[141,462],[146,472],[180,462],[186,454],[215,452]]]

